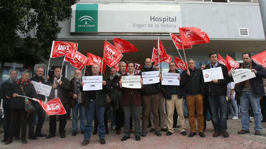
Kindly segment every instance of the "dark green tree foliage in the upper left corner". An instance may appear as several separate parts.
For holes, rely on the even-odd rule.
[[[78,0],[0,0],[0,59],[31,54],[48,59],[59,22],[71,17]]]

